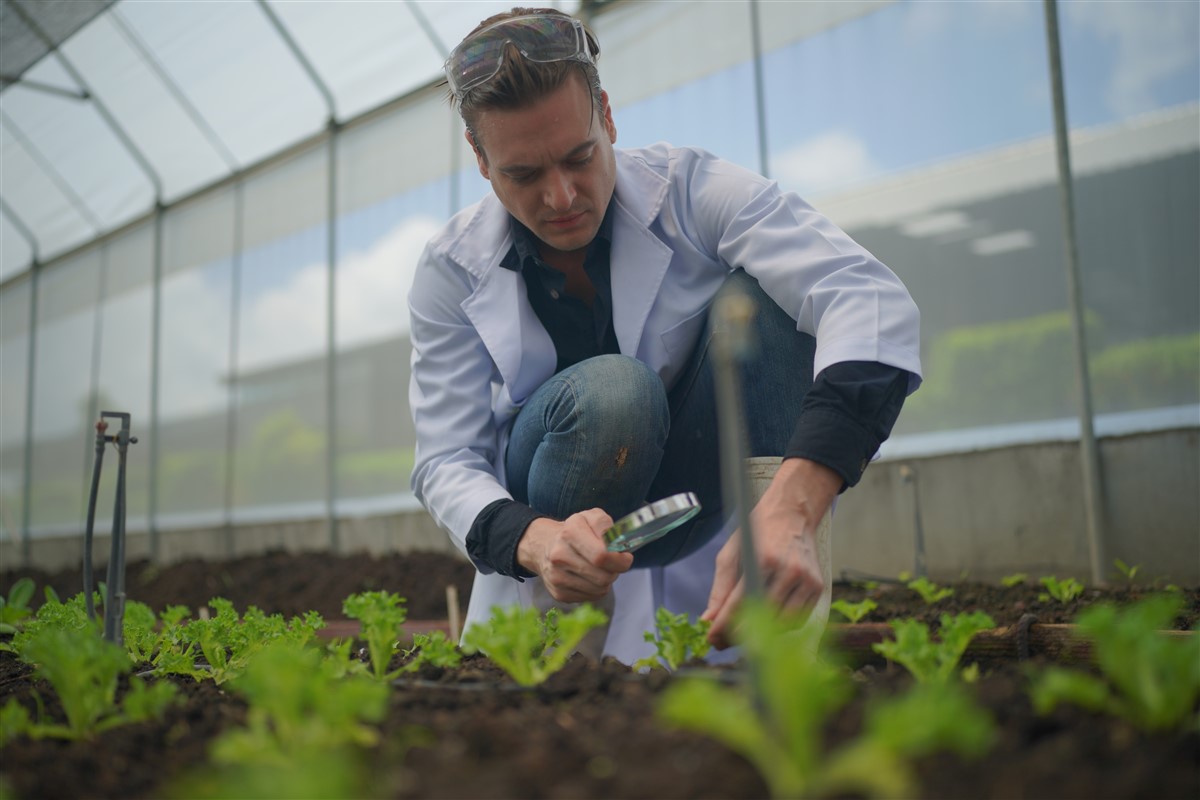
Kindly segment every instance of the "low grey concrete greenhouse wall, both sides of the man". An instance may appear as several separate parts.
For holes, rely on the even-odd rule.
[[[1114,558],[1140,565],[1139,578],[1200,584],[1200,431],[1100,440],[1105,487],[1104,566]],[[994,581],[1014,572],[1090,581],[1079,445],[1043,443],[977,452],[880,461],[842,495],[834,517],[834,575],[894,578],[917,572],[918,530],[932,579]],[[344,519],[346,552],[432,549],[456,553],[424,512]],[[324,519],[161,534],[164,563],[224,558],[269,549],[328,547]],[[31,563],[79,564],[82,536],[36,539]],[[97,536],[97,564],[108,540]],[[131,534],[130,559],[149,554],[145,534]],[[0,542],[5,567],[20,561],[19,543]]]

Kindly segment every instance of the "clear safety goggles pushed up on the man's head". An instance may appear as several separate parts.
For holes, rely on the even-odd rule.
[[[595,64],[583,23],[554,14],[527,14],[488,25],[454,49],[445,62],[446,83],[455,100],[496,77],[504,52],[512,44],[527,61]]]

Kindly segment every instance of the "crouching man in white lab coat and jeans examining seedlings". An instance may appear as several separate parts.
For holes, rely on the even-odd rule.
[[[919,315],[895,275],[770,181],[695,149],[614,149],[599,52],[580,22],[514,8],[446,61],[493,192],[430,241],[409,295],[412,483],[479,571],[468,625],[497,604],[607,603],[602,651],[630,662],[655,606],[710,620],[725,646],[742,596],[718,293],[758,303],[750,455],[785,459],[752,528],[784,607],[821,595],[817,525],[920,381]],[[605,548],[614,518],[685,491],[696,519],[636,554]]]

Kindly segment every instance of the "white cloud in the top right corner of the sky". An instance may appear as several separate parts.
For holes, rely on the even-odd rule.
[[[1153,86],[1195,61],[1194,2],[1069,2],[1069,20],[1115,42],[1109,108],[1129,116],[1157,108]]]

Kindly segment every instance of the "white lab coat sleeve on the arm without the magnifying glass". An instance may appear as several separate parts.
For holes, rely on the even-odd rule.
[[[700,247],[743,267],[817,339],[815,373],[877,361],[920,383],[920,313],[899,277],[797,194],[698,150],[677,151],[686,198],[668,213]],[[690,222],[689,222],[690,221]]]

